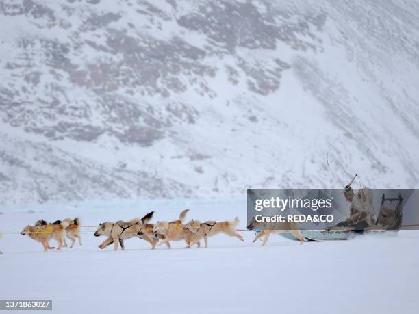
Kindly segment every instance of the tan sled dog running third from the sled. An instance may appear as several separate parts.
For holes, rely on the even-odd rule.
[[[157,222],[154,226],[155,233],[159,235],[164,235],[164,239],[162,239],[162,241],[160,241],[157,244],[157,246],[161,246],[162,244],[168,244],[170,241],[184,240],[186,241],[186,245],[189,248],[190,244],[195,239],[195,233],[196,231],[198,231],[200,226],[201,222],[199,220],[191,220],[186,225],[177,224],[173,222]],[[194,232],[190,231],[190,229]],[[201,243],[197,241],[196,245],[199,247],[201,246]]]

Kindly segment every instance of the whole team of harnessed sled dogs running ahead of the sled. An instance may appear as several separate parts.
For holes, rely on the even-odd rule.
[[[114,250],[118,250],[118,246],[122,250],[125,250],[124,240],[131,237],[138,237],[144,241],[149,242],[151,249],[153,250],[156,246],[162,246],[165,244],[168,248],[171,248],[171,241],[185,241],[186,247],[190,248],[196,245],[198,248],[201,246],[203,239],[205,248],[208,246],[208,237],[223,233],[230,237],[237,237],[240,241],[244,241],[243,237],[238,234],[236,226],[239,224],[239,219],[236,217],[233,221],[222,221],[216,222],[208,220],[201,222],[199,220],[190,220],[189,222],[183,223],[186,218],[186,214],[189,209],[182,211],[177,220],[170,222],[156,222],[151,224],[150,221],[153,218],[154,211],[147,213],[144,217],[138,219],[134,218],[125,222],[123,220],[117,222],[102,222],[99,224],[97,231],[94,232],[95,237],[105,236],[107,239],[103,241],[99,248],[103,249],[111,244],[114,244]],[[21,235],[28,235],[31,239],[40,242],[44,251],[51,250],[54,247],[49,246],[49,240],[54,239],[57,242],[57,250],[61,250],[62,247],[66,248],[66,237],[71,240],[70,248],[75,245],[76,239],[79,241],[81,246],[80,237],[81,222],[80,218],[74,220],[66,218],[64,220],[57,220],[53,223],[47,223],[45,220],[38,220],[34,226],[26,226]],[[247,227],[249,230],[258,229],[260,226],[257,225],[254,218]],[[263,246],[268,241],[270,233],[286,233],[291,232],[295,237],[300,239],[302,244],[305,238],[301,235],[299,230],[296,230],[295,226],[290,226],[293,230],[263,230],[258,233],[253,240],[257,241],[260,237],[264,236]],[[1,252],[0,252],[1,254]]]

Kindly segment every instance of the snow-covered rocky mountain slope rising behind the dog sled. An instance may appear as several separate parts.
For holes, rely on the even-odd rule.
[[[335,187],[355,172],[419,185],[411,1],[27,0],[0,15],[2,203]]]

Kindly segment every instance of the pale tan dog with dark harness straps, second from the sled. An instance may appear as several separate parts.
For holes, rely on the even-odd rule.
[[[205,241],[205,248],[208,247],[208,237],[212,237],[218,233],[224,233],[225,235],[229,235],[230,237],[237,237],[240,241],[244,241],[243,237],[239,235],[236,231],[236,226],[240,222],[239,218],[234,218],[233,221],[225,221],[225,222],[215,222],[212,220],[208,220],[203,222],[199,229],[195,232],[195,239],[190,243],[190,246],[196,244],[202,238]],[[194,232],[192,226],[186,225],[189,231]]]

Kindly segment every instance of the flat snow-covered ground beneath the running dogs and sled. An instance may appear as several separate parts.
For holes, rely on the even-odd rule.
[[[209,248],[149,250],[140,239],[125,252],[83,246],[42,252],[18,232],[36,220],[81,216],[96,226],[155,210],[157,220],[233,219],[245,228],[245,200],[162,200],[2,208],[0,298],[47,298],[53,313],[418,313],[419,232],[306,243],[272,236],[268,246],[220,235]],[[9,234],[16,233],[16,234]],[[52,242],[52,241],[51,241]]]

